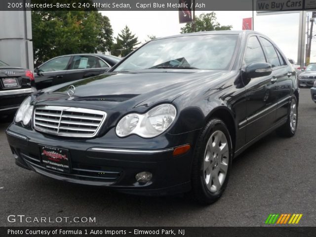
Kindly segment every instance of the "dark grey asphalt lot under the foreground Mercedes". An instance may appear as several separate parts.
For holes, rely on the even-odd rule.
[[[302,213],[298,226],[316,226],[316,104],[307,88],[300,89],[296,135],[272,133],[236,158],[225,194],[209,206],[189,195],[125,195],[22,169],[6,140],[8,125],[0,122],[0,226],[264,226],[270,213]],[[31,222],[10,223],[8,215]],[[46,223],[38,224],[40,217]],[[95,223],[47,223],[48,217],[95,217]]]

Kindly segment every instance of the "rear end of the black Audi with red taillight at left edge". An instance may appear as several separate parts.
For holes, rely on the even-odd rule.
[[[15,113],[25,97],[34,91],[34,76],[29,69],[0,61],[0,115]]]

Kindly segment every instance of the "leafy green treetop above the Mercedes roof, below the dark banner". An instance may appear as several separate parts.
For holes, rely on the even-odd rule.
[[[233,26],[221,26],[217,22],[216,13],[212,11],[211,13],[202,13],[195,19],[196,22],[196,31],[224,31],[231,30]],[[187,23],[184,27],[181,28],[182,33],[191,33],[192,23]]]

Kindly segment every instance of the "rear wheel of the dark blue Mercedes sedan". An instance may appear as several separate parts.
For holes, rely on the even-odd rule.
[[[294,106],[294,107],[293,107]],[[298,122],[298,104],[295,96],[291,98],[289,113],[286,122],[276,129],[276,133],[282,137],[292,137],[295,135]]]

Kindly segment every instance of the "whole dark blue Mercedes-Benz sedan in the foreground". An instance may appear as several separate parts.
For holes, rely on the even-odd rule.
[[[299,91],[285,59],[252,31],[152,40],[106,74],[28,97],[8,142],[19,166],[57,180],[142,195],[191,190],[212,203],[234,157],[275,129],[295,134]]]

